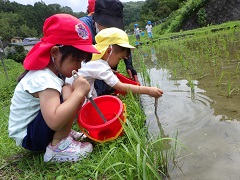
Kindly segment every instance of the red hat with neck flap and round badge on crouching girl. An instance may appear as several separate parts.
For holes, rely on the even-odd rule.
[[[73,46],[89,53],[99,53],[92,46],[88,27],[69,14],[55,14],[43,25],[43,38],[27,54],[23,66],[27,70],[45,68],[50,61],[50,50],[56,44]]]

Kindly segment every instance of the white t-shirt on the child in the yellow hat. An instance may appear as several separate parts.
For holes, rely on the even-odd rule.
[[[95,79],[103,80],[110,87],[115,86],[119,81],[108,62],[101,59],[82,63],[81,68],[78,70],[78,75],[84,76],[90,84],[90,93],[92,97],[97,97],[97,93],[94,88]],[[73,78],[66,78],[65,82],[72,84]]]

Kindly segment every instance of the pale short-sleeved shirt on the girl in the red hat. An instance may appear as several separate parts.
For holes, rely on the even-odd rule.
[[[37,116],[40,110],[39,98],[30,93],[43,91],[47,88],[62,91],[63,80],[58,78],[51,70],[29,71],[17,84],[10,106],[8,122],[9,137],[19,146],[27,135],[27,126]]]

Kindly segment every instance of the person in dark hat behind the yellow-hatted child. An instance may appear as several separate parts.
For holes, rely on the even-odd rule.
[[[94,1],[94,0],[89,0]],[[88,1],[88,2],[89,2]],[[85,16],[80,18],[85,24],[89,26],[92,32],[92,36],[95,37],[96,34],[102,29],[109,27],[117,27],[119,29],[124,29],[123,22],[123,4],[119,0],[95,0],[95,6],[93,8],[93,16]],[[90,3],[90,2],[89,2]],[[89,4],[89,7],[91,5]],[[94,38],[93,38],[94,39]],[[95,39],[93,44],[95,44]],[[126,71],[131,79],[138,82],[137,71],[134,69],[132,64],[132,56],[124,60]],[[117,67],[113,68],[117,70]],[[98,92],[98,95],[110,94],[109,86],[104,83],[104,81],[96,80],[94,86]]]

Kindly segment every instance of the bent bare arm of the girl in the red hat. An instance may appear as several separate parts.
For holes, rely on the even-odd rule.
[[[62,129],[72,120],[79,110],[79,105],[90,90],[90,85],[83,77],[73,83],[73,92],[61,104],[59,92],[55,89],[46,89],[38,93],[42,115],[52,130]]]

